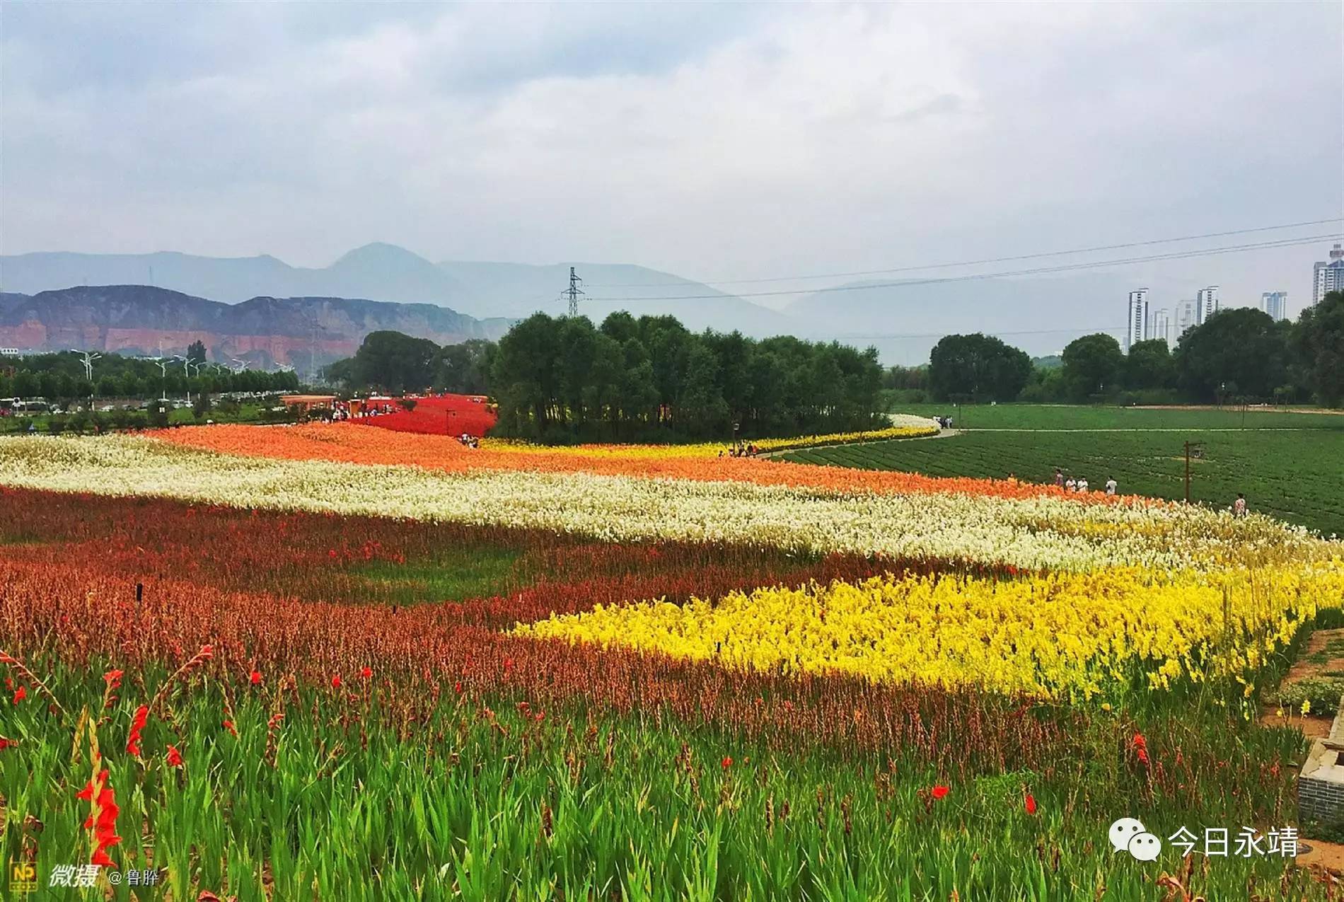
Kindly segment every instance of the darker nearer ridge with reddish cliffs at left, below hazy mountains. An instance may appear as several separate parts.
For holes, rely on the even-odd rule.
[[[200,340],[212,360],[290,364],[302,372],[348,358],[378,329],[454,344],[499,339],[511,324],[433,304],[344,297],[253,297],[220,304],[149,285],[0,294],[0,347],[157,355],[181,354]]]

